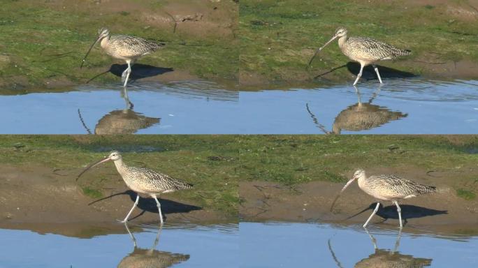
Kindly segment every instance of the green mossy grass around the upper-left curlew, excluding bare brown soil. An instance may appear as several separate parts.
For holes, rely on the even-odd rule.
[[[161,10],[164,2],[142,1],[140,4],[154,13]],[[140,64],[184,70],[210,79],[233,79],[238,73],[238,52],[232,37],[173,34],[172,27],[148,27],[138,11],[87,10],[86,6],[94,5],[88,1],[78,5],[82,8],[61,10],[37,1],[2,3],[0,54],[8,55],[10,62],[0,65],[0,84],[19,82],[22,87],[41,87],[50,80],[82,84],[108,70],[115,61],[101,52],[99,45],[89,54],[86,68],[80,69],[82,57],[98,29],[104,26],[108,26],[112,34],[131,34],[166,43],[165,50],[144,57]],[[212,3],[210,5],[212,9]],[[224,4],[221,8],[228,5],[231,6]],[[117,80],[118,77],[108,73],[94,82]]]

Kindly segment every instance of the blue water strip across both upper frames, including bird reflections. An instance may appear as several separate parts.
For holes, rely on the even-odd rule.
[[[0,133],[470,134],[478,81],[407,78],[315,89],[240,91],[213,82],[136,82],[0,96]],[[1,94],[1,90],[0,90]],[[359,105],[360,98],[360,105]]]

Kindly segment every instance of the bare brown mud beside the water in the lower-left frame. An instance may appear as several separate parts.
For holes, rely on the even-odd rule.
[[[65,230],[71,230],[74,226],[89,228],[90,225],[99,226],[100,229],[106,226],[109,230],[112,223],[126,216],[136,198],[136,194],[126,188],[119,175],[113,184],[108,185],[108,189],[103,189],[108,194],[100,198],[89,196],[94,193],[85,195],[85,188],[75,183],[75,176],[81,170],[55,171],[14,165],[1,165],[0,170],[0,228],[28,226],[28,229],[36,228],[38,232],[51,232],[48,230],[66,224],[70,227]],[[159,201],[168,224],[237,221],[219,211],[179,200],[174,193],[161,196]],[[141,198],[130,221],[132,224],[157,224],[159,220],[154,200]],[[121,224],[118,227],[119,230],[123,228]]]

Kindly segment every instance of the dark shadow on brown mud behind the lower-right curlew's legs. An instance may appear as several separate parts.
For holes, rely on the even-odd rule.
[[[377,203],[373,202],[372,204],[370,204],[370,206],[363,209],[359,213],[350,216],[349,218],[357,216],[368,210],[372,211],[373,209],[375,209],[375,206],[377,206]],[[410,218],[423,218],[426,216],[448,214],[447,210],[427,209],[426,207],[414,206],[412,204],[400,204],[400,209],[402,209],[402,218],[405,223],[407,223],[407,219]],[[382,204],[380,204],[376,215],[383,218],[382,222],[388,220],[389,218],[398,219],[397,207],[395,205],[384,207]]]

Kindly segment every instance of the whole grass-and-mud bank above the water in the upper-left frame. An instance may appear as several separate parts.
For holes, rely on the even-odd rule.
[[[115,68],[124,70],[124,61],[99,45],[80,68],[101,27],[166,43],[165,50],[137,62],[144,72],[133,67],[141,80],[236,80],[234,1],[10,1],[0,17],[2,88],[67,87],[93,77],[96,84],[120,81]]]

